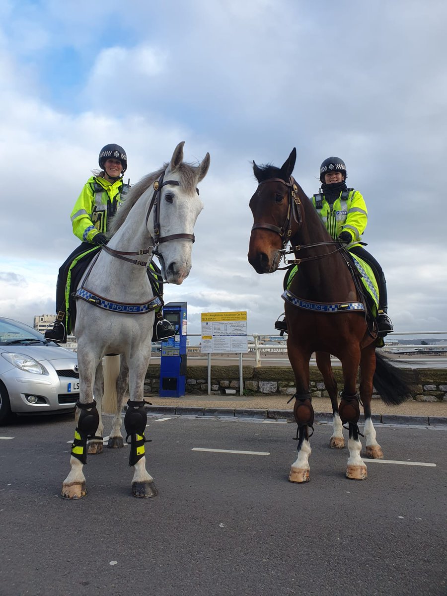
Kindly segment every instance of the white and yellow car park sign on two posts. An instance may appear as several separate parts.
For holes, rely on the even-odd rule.
[[[247,311],[201,313],[201,352],[208,355],[208,395],[211,395],[211,355],[239,353],[239,393],[243,395],[242,354],[249,351]]]

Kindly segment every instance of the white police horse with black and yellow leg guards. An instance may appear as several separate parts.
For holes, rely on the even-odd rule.
[[[198,166],[184,163],[183,145],[184,142],[177,145],[169,164],[131,188],[111,223],[111,240],[100,251],[77,290],[77,297],[81,298],[77,300],[74,330],[79,402],[71,470],[62,486],[62,496],[67,499],[86,495],[83,464],[88,439],[89,453],[101,452],[103,448],[101,359],[105,355],[121,355],[116,382],[117,407],[108,446],[123,446],[121,412],[129,381],[125,429],[131,437],[132,494],[139,497],[157,494],[153,478],[145,468],[147,417],[143,385],[151,355],[154,308],[160,302],[153,297],[146,266],[155,253],[167,282],[181,284],[188,276],[194,224],[203,209],[197,183],[206,176],[210,164],[209,153]]]

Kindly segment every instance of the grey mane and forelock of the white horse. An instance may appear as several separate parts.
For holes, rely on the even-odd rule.
[[[160,178],[162,173],[166,171],[167,166],[169,166],[169,163],[163,164],[163,167],[161,167],[159,170],[147,174],[144,176],[144,178],[136,182],[136,184],[131,187],[128,194],[126,194],[125,199],[121,203],[120,208],[117,210],[116,215],[111,219],[110,225],[107,229],[108,237],[112,237],[114,234],[116,234],[116,232],[125,222],[125,219],[129,215],[129,211],[135,205],[136,201],[138,201],[139,197],[141,197],[141,195],[144,194],[145,191],[147,191],[147,189]],[[186,162],[182,162],[178,167],[176,167],[175,171],[180,173],[182,187],[185,188],[187,193],[192,193],[195,190],[199,170],[200,166],[194,166],[193,164]]]

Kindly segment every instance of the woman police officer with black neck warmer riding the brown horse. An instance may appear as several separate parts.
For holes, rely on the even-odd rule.
[[[360,244],[368,223],[368,210],[361,193],[346,187],[346,164],[339,157],[328,157],[319,169],[320,192],[312,197],[322,223],[334,240],[349,244],[349,252],[364,259],[373,269],[379,286],[377,325],[381,336],[393,331],[387,314],[388,300],[386,280],[382,268],[372,254]],[[285,319],[275,322],[275,328],[287,331]]]

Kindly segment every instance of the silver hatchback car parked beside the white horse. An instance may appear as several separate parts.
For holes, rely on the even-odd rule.
[[[0,424],[11,412],[70,412],[77,399],[76,353],[28,325],[0,317]]]

